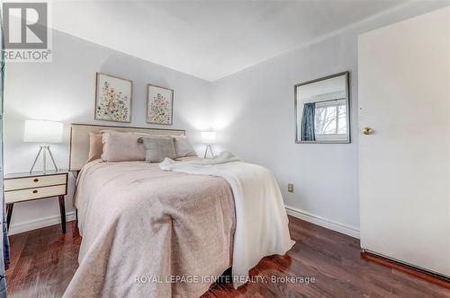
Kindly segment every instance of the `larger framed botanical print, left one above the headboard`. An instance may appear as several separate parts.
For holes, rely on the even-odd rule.
[[[109,74],[96,74],[95,119],[131,122],[133,83]]]

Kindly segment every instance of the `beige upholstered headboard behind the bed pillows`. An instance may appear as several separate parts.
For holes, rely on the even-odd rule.
[[[185,130],[164,129],[149,127],[112,127],[94,124],[72,123],[70,125],[70,156],[69,171],[80,171],[85,165],[89,155],[89,133],[100,133],[103,129],[112,129],[121,132],[146,133],[151,136],[180,136]]]

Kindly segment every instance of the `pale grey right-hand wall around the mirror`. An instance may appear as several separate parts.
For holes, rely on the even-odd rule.
[[[405,4],[216,81],[212,86],[216,150],[227,149],[275,173],[296,215],[357,236],[357,36],[446,3]],[[295,144],[293,85],[350,71],[351,144]],[[294,183],[294,193],[287,184]]]

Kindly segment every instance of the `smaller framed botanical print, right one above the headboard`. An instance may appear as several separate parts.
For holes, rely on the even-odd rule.
[[[147,85],[147,123],[172,125],[174,91]]]

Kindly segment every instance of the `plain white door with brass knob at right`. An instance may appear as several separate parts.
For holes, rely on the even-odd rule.
[[[450,276],[450,7],[359,38],[361,246]]]

